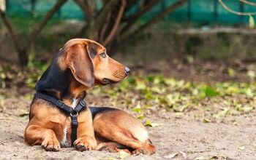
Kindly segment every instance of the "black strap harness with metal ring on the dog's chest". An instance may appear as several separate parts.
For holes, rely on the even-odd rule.
[[[54,97],[50,97],[49,95],[45,95],[41,92],[37,92],[36,97],[41,98],[42,100],[46,100],[50,103],[53,103],[58,108],[61,109],[61,111],[64,111],[64,113],[69,113],[71,117],[71,125],[72,125],[72,132],[71,132],[71,141],[72,145],[77,139],[77,129],[78,129],[78,113],[82,111],[84,108],[86,108],[86,102],[82,99],[78,103],[78,105],[75,108],[69,107],[68,105],[65,105],[64,102],[61,100],[57,100]]]

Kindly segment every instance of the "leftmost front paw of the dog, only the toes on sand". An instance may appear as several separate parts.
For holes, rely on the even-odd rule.
[[[45,138],[45,140],[42,141],[42,148],[44,148],[45,151],[59,151],[61,145],[59,141],[54,138]]]

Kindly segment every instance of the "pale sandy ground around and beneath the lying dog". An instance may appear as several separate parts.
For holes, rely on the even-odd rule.
[[[44,151],[40,146],[23,143],[28,119],[20,116],[29,111],[29,100],[7,98],[0,110],[0,159],[120,159],[118,153],[78,152],[61,148]],[[149,127],[151,140],[157,146],[152,156],[129,156],[126,159],[255,159],[256,111],[229,116],[222,121],[203,123],[193,116],[160,113],[148,117],[160,124]],[[236,119],[236,124],[233,120]],[[176,156],[175,156],[176,155]]]

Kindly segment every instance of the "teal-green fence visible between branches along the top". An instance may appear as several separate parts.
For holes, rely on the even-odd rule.
[[[94,0],[100,7],[100,1]],[[142,20],[148,20],[157,15],[162,9],[173,4],[176,0],[162,0],[151,12],[142,17]],[[256,2],[255,0],[250,0]],[[45,12],[53,6],[56,0],[7,0],[7,14],[12,17],[42,17]],[[238,0],[223,0],[228,7],[239,12],[255,12],[256,7],[244,4]],[[131,9],[137,12],[138,6]],[[83,20],[85,16],[74,1],[69,0],[54,16],[56,19],[76,19]],[[171,12],[165,18],[167,21],[191,22],[200,24],[241,24],[248,21],[248,17],[233,15],[227,12],[218,0],[189,0],[187,4]]]

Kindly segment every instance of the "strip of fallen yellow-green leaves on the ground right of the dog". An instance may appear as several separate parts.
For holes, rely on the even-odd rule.
[[[223,117],[255,108],[256,82],[218,82],[210,85],[162,75],[134,74],[119,84],[94,87],[89,94],[107,96],[114,102],[113,105],[132,108],[138,113],[138,119],[143,119],[151,108],[165,108],[173,112],[187,112],[193,108],[211,111],[216,104],[219,104],[217,109],[220,108],[220,111],[213,111],[213,116]]]

